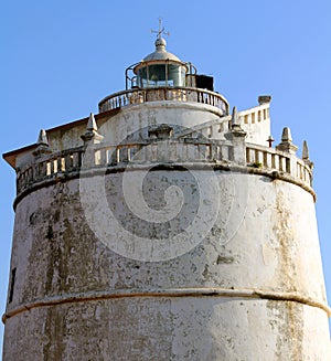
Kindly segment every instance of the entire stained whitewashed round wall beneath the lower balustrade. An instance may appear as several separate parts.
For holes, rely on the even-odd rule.
[[[82,179],[24,197],[4,360],[329,360],[312,195],[258,174],[215,171],[212,181],[195,172],[218,187],[206,193],[216,214],[197,221],[203,204],[215,211],[213,199],[175,169],[151,169],[143,181],[153,211],[167,205],[169,187],[182,190],[181,212],[167,222],[137,217],[121,172],[96,176],[93,185],[104,187],[89,189],[102,233]],[[105,194],[108,210],[99,208]],[[204,240],[173,243],[194,221],[213,222]],[[132,249],[136,236],[150,240],[148,252]]]

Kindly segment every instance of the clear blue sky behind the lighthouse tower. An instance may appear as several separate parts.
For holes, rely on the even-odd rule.
[[[98,100],[125,88],[125,68],[153,51],[159,17],[171,32],[168,50],[213,75],[231,106],[252,107],[271,94],[276,142],[284,126],[300,148],[308,140],[331,300],[330,0],[3,0],[0,152],[35,142],[41,128],[97,113]],[[3,314],[15,183],[4,161],[0,179]]]

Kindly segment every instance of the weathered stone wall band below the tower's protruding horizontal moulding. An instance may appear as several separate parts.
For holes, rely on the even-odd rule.
[[[4,360],[330,359],[324,312],[297,302],[135,297],[26,312],[8,320]]]

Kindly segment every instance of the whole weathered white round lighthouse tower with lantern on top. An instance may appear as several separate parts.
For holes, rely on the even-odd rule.
[[[3,360],[330,360],[307,144],[166,49],[17,172]]]

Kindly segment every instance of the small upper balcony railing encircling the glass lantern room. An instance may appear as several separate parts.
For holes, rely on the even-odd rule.
[[[228,104],[218,93],[194,87],[137,88],[111,94],[99,103],[99,113],[147,102],[177,100],[212,105],[222,115],[228,114]]]

